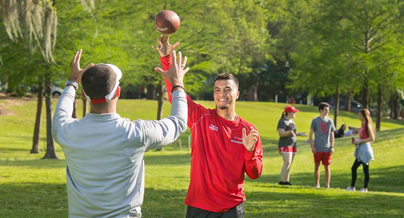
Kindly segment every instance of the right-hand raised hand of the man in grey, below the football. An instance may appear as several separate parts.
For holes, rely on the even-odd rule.
[[[185,68],[186,65],[186,56],[184,57],[184,60],[182,60],[182,54],[181,52],[178,52],[178,59],[176,57],[175,50],[172,51],[171,53],[171,58],[173,60],[173,64],[171,64],[170,69],[167,71],[164,71],[163,69],[159,67],[155,67],[156,72],[162,74],[164,78],[166,78],[171,85],[174,87],[175,85],[181,85],[184,86],[184,75],[185,73],[188,72],[189,67]]]

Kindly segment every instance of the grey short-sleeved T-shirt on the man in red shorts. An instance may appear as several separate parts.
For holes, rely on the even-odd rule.
[[[328,116],[322,119],[320,116],[312,121],[310,127],[314,131],[314,147],[318,152],[331,152],[330,138],[336,130],[334,121]]]

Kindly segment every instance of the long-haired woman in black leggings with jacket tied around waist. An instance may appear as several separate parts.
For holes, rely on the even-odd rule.
[[[369,161],[374,160],[373,149],[370,143],[375,141],[375,131],[373,129],[372,118],[370,117],[370,111],[368,109],[362,109],[359,112],[359,119],[362,121],[362,127],[359,130],[359,139],[352,138],[352,144],[356,146],[354,153],[355,162],[352,165],[352,180],[350,187],[346,188],[346,191],[355,192],[355,182],[357,180],[357,169],[360,165],[363,166],[365,172],[365,185],[361,189],[362,193],[368,192],[369,184]]]

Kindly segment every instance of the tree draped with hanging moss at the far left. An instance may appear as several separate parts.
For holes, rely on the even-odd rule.
[[[51,63],[55,63],[53,49],[56,43],[57,15],[55,0],[0,1],[3,22],[13,41],[23,38],[31,50],[40,51],[45,65],[46,153],[44,158],[57,158],[51,134],[52,96]],[[43,25],[42,25],[43,24]],[[38,114],[38,113],[37,113]],[[40,116],[37,115],[37,117]],[[37,130],[37,129],[35,129]],[[39,129],[37,130],[39,131]],[[35,131],[34,131],[35,132]],[[35,139],[35,136],[34,136]],[[35,145],[35,143],[33,143]]]

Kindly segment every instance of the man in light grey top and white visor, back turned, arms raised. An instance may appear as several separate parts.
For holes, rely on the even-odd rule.
[[[112,64],[80,69],[81,50],[73,58],[70,79],[56,106],[52,136],[66,158],[69,217],[141,217],[144,152],[174,142],[186,130],[187,101],[181,60],[161,72],[175,84],[170,116],[161,120],[122,118],[116,113],[121,70]],[[180,54],[179,54],[179,57]],[[90,113],[72,118],[78,83]]]

